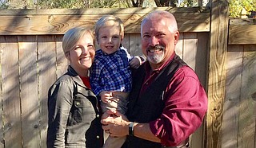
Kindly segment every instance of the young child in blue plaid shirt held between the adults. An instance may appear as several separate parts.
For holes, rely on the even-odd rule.
[[[131,68],[138,68],[144,58],[130,56],[122,47],[124,26],[120,18],[107,15],[100,18],[95,25],[96,41],[101,49],[96,51],[90,73],[93,92],[101,99],[102,111],[114,108],[126,113],[126,104],[131,90]],[[118,148],[126,137],[106,139],[104,148]]]

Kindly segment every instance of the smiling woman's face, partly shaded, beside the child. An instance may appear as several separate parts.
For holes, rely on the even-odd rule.
[[[87,76],[95,56],[94,39],[90,33],[85,33],[76,43],[74,49],[70,50],[68,60],[70,66],[78,72],[79,76]]]

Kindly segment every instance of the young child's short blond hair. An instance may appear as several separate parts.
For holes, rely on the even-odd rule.
[[[95,25],[95,36],[96,40],[98,41],[98,32],[99,29],[101,29],[104,26],[110,26],[113,25],[114,23],[118,23],[119,30],[120,30],[120,35],[123,38],[124,37],[124,26],[123,22],[120,18],[114,16],[114,15],[105,15],[102,18],[100,18]]]

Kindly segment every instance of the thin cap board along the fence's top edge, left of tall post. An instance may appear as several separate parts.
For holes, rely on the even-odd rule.
[[[152,7],[152,8],[90,8],[90,9],[39,9],[39,10],[0,10],[2,16],[30,15],[30,14],[63,14],[63,15],[83,15],[83,14],[147,14],[153,10],[166,10],[170,13],[210,13],[208,7]]]

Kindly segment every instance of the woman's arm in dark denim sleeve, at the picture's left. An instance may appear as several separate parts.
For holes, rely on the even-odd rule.
[[[72,107],[70,84],[60,83],[50,88],[48,98],[47,147],[64,147],[66,123]]]

